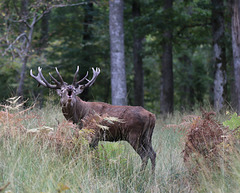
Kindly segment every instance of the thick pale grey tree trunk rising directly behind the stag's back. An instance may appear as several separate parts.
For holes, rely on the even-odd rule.
[[[127,104],[124,58],[123,0],[109,0],[112,104]]]

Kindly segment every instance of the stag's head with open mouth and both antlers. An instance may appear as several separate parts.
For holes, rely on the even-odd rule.
[[[85,88],[90,87],[93,85],[93,83],[95,82],[97,76],[100,73],[100,69],[96,68],[96,70],[94,68],[92,68],[93,70],[93,77],[91,80],[88,80],[88,72],[85,75],[84,78],[82,78],[81,80],[77,80],[77,75],[79,72],[79,66],[77,67],[77,70],[75,72],[74,78],[73,78],[73,82],[72,84],[68,84],[66,82],[63,81],[62,76],[60,75],[59,71],[57,68],[56,72],[59,78],[59,81],[54,78],[51,73],[49,73],[52,81],[54,84],[50,84],[43,76],[42,74],[42,68],[38,67],[38,75],[34,76],[32,73],[32,70],[30,70],[30,75],[39,83],[39,85],[42,85],[44,87],[47,88],[51,88],[51,89],[55,89],[57,91],[57,94],[61,97],[61,105],[63,107],[66,107],[68,105],[73,106],[73,104],[76,102],[76,96],[81,94]],[[82,82],[86,82],[85,84],[81,84]]]

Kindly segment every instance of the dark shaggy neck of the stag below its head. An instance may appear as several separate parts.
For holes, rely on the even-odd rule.
[[[89,113],[89,108],[87,108],[85,101],[77,97],[73,105],[62,107],[62,112],[67,120],[73,121],[73,123],[80,123],[81,119]]]

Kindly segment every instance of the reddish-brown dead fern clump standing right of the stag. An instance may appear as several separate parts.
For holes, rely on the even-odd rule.
[[[214,112],[202,112],[187,128],[183,158],[191,174],[199,170],[219,169],[219,163],[226,155],[227,145],[232,141],[229,129],[216,121]]]

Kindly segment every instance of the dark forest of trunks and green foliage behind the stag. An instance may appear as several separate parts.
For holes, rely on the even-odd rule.
[[[80,66],[80,77],[101,69],[80,96],[87,101],[114,103],[113,92],[126,86],[117,104],[155,113],[209,104],[240,112],[239,0],[1,0],[0,9],[1,102],[13,95],[41,106],[55,101],[29,70],[37,74],[40,66],[49,80],[58,67],[71,83]],[[116,37],[113,18],[121,28]],[[122,38],[120,64],[113,38]],[[113,80],[114,65],[123,74]]]

